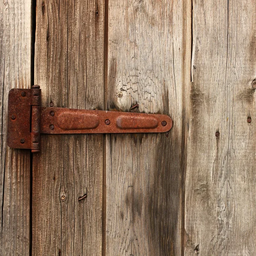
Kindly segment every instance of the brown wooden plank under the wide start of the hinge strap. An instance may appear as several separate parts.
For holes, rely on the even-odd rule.
[[[42,104],[104,109],[103,0],[37,3]],[[33,157],[32,254],[102,254],[104,135],[45,135]],[[78,198],[87,193],[87,198]]]

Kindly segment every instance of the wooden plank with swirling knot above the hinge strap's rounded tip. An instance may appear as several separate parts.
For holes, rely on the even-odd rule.
[[[106,255],[183,254],[190,12],[189,1],[109,0],[108,109],[138,103],[174,127],[107,136]]]

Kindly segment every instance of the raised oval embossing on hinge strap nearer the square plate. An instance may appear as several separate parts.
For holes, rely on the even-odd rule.
[[[95,129],[99,125],[99,117],[90,113],[64,112],[58,115],[57,122],[62,130]]]

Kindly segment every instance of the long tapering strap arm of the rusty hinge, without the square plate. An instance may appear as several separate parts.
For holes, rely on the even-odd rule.
[[[42,134],[159,133],[171,128],[172,119],[167,115],[41,108]]]

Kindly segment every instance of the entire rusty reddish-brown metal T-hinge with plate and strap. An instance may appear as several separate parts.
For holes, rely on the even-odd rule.
[[[41,107],[41,89],[12,89],[7,143],[39,152],[41,134],[160,133],[172,128],[167,115]]]

